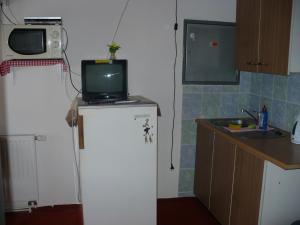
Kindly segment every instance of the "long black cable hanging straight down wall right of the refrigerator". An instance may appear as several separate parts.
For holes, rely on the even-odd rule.
[[[171,141],[171,160],[170,169],[174,170],[173,164],[173,152],[174,152],[174,128],[175,128],[175,116],[176,116],[176,66],[178,57],[178,44],[177,44],[177,30],[178,30],[178,0],[175,0],[175,24],[174,24],[174,44],[175,44],[175,57],[173,65],[173,118],[172,118],[172,141]]]

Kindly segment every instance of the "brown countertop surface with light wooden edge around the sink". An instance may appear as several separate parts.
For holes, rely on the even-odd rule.
[[[289,134],[272,139],[245,139],[226,131],[222,127],[213,125],[209,120],[196,119],[196,122],[224,135],[243,150],[258,158],[268,160],[282,169],[300,169],[300,145],[291,143]]]

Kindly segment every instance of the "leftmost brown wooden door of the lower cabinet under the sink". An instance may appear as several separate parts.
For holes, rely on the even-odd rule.
[[[213,142],[214,131],[198,123],[194,193],[207,208],[209,208]]]

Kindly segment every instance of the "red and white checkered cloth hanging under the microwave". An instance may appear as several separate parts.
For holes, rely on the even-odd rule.
[[[0,64],[0,76],[10,73],[11,67],[51,66],[56,64],[62,64],[63,70],[68,70],[68,66],[63,59],[7,60]]]

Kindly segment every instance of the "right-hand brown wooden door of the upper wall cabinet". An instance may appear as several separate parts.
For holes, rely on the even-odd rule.
[[[288,73],[291,15],[292,0],[261,0],[259,72]]]

